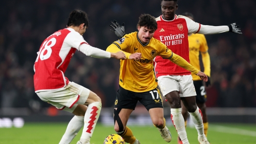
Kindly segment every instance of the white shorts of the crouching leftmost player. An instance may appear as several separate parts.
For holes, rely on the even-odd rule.
[[[57,109],[73,113],[78,104],[84,104],[88,99],[90,90],[74,82],[69,82],[64,88],[40,91],[36,94],[42,101],[52,104]]]

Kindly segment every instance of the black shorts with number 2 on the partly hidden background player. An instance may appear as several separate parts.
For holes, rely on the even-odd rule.
[[[203,84],[203,81],[193,81],[194,86],[195,86],[195,92],[196,92],[196,103],[205,103],[207,100],[207,95],[206,95],[206,89]]]

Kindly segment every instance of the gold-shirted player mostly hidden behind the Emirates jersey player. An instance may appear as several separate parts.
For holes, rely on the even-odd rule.
[[[181,15],[187,16],[190,19],[194,20],[193,14],[191,13],[186,12]],[[201,53],[202,61],[204,65],[204,73],[208,76],[208,82],[206,82],[206,86],[209,86],[210,85],[210,56],[208,53],[208,45],[207,45],[205,36],[203,34],[189,35],[189,50],[190,50],[189,51],[190,64],[194,66],[196,69],[198,69],[199,71],[200,71],[199,52]],[[202,112],[204,133],[207,137],[208,119],[207,119],[206,104],[205,104],[207,100],[205,86],[203,84],[203,81],[199,79],[198,76],[194,75],[193,73],[191,75],[192,75],[193,84],[196,91],[196,96],[195,96],[196,104]],[[185,127],[186,127],[188,111],[182,101],[181,101],[181,108],[182,108],[181,114],[184,117]],[[182,144],[182,141],[180,140],[180,138],[178,138],[178,144]]]

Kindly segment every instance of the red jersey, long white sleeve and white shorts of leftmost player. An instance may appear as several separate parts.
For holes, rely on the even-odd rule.
[[[34,64],[34,87],[39,98],[71,113],[78,104],[85,103],[90,93],[64,76],[77,49],[86,56],[111,57],[110,52],[90,46],[78,32],[67,28],[45,39]]]

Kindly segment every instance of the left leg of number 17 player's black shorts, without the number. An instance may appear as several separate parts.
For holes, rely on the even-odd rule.
[[[114,108],[132,109],[134,110],[138,99],[135,97],[136,92],[132,92],[119,86],[115,99]]]

